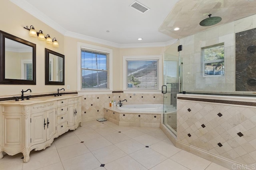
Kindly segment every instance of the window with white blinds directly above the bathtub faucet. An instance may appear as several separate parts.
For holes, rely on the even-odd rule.
[[[159,63],[159,56],[124,57],[124,89],[159,90]]]

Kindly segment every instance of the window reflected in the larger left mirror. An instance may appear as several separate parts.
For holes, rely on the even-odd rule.
[[[32,60],[21,60],[21,77],[23,80],[32,80]]]

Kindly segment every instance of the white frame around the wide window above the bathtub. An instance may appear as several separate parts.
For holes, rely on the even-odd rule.
[[[136,60],[158,60],[158,89],[128,89],[126,88],[126,61],[136,61]],[[124,93],[161,93],[162,81],[163,81],[163,64],[162,55],[139,55],[139,56],[123,56],[123,91]]]

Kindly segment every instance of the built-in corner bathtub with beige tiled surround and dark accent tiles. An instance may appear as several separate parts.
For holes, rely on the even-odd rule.
[[[104,118],[108,121],[121,126],[138,126],[138,127],[160,127],[162,110],[150,111],[141,109],[131,109],[125,106],[136,107],[138,104],[142,107],[150,106],[157,109],[158,104],[150,104],[150,102],[127,102],[124,106],[112,106],[110,107],[108,103],[104,104]]]

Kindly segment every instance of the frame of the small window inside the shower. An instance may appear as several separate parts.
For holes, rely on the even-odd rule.
[[[222,45],[223,45],[223,48],[224,48],[224,58],[223,59],[204,61],[204,49],[210,49],[212,47],[219,47],[219,46],[222,46]],[[214,44],[214,45],[210,45],[210,46],[202,48],[202,74],[203,74],[204,77],[225,76],[225,71],[224,71],[224,74],[208,74],[208,75],[205,75],[205,64],[218,63],[218,62],[224,62],[224,68],[225,68],[225,46],[224,46],[224,43],[218,43],[218,44]]]

